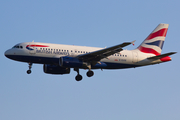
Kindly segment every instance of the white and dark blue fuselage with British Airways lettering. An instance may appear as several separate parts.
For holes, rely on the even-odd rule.
[[[17,61],[57,65],[58,59],[62,56],[76,57],[101,49],[103,48],[26,42],[15,45],[15,47],[6,51],[5,54],[10,59]],[[122,69],[161,62],[160,60],[152,62],[146,59],[152,56],[154,54],[141,53],[138,50],[123,50],[100,60],[99,64],[101,62],[107,64],[106,67],[100,67],[103,69]]]

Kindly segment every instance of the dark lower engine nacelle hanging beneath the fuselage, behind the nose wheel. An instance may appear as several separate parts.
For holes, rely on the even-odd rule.
[[[43,70],[48,74],[69,74],[70,68],[64,68],[56,65],[44,64]]]

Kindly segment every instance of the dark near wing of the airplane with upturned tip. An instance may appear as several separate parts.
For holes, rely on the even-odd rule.
[[[85,62],[92,62],[92,61],[100,61],[103,58],[107,58],[110,55],[113,55],[114,53],[120,52],[122,51],[123,47],[128,46],[130,44],[134,45],[135,41],[132,42],[125,42],[119,45],[115,45],[113,47],[109,47],[109,48],[105,48],[105,49],[101,49],[98,51],[94,51],[91,53],[87,53],[87,54],[83,54],[83,55],[79,55],[77,56],[77,58],[85,61]]]

